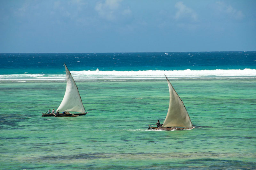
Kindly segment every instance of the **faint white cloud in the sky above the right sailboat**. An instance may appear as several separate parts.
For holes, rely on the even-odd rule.
[[[198,21],[196,12],[184,5],[183,2],[177,2],[175,4],[175,8],[178,9],[174,16],[175,20],[179,20],[181,18],[190,18],[191,21]]]

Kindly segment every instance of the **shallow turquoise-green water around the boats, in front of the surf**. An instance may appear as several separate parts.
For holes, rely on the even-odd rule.
[[[171,80],[193,130],[148,131],[169,104],[163,80],[77,82],[89,113],[57,109],[65,82],[0,82],[2,169],[255,169],[256,80]]]

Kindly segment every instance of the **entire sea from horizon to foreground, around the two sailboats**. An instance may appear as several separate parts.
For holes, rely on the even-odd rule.
[[[68,66],[86,111],[57,109]],[[169,90],[192,130],[164,122]],[[256,51],[0,54],[0,169],[256,169]]]

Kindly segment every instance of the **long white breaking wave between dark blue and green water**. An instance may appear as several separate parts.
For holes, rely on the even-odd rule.
[[[243,70],[142,70],[142,71],[100,71],[83,70],[70,71],[75,80],[93,79],[163,79],[164,74],[170,78],[256,78],[256,69]],[[6,74],[0,75],[0,80],[42,80],[63,81],[66,74]]]

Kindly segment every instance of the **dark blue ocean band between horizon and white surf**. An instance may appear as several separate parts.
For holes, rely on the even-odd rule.
[[[69,70],[255,69],[256,51],[165,53],[19,53],[0,54],[0,74],[62,74]]]

